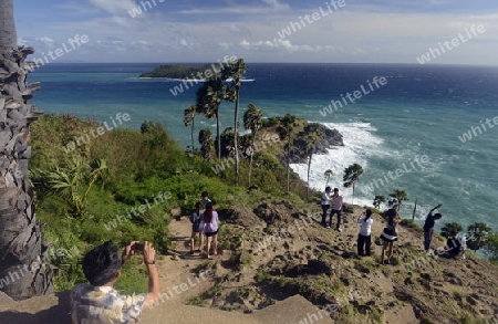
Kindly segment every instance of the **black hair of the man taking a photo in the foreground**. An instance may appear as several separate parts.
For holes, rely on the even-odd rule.
[[[90,283],[100,286],[108,283],[121,269],[122,258],[116,244],[107,241],[86,253],[83,273]]]

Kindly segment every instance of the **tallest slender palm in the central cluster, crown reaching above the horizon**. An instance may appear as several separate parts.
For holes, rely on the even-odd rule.
[[[229,85],[229,95],[227,96],[228,101],[236,102],[235,108],[235,122],[234,122],[234,149],[235,149],[235,158],[236,158],[236,186],[239,186],[239,148],[237,145],[237,136],[238,136],[238,127],[239,127],[239,97],[240,97],[240,86],[242,85],[242,75],[246,73],[246,63],[243,63],[243,59],[237,60],[237,62],[230,62],[227,66],[221,71],[221,79],[228,80],[231,79],[231,83]]]

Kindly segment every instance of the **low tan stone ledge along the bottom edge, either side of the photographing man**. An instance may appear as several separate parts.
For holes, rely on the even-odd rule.
[[[20,302],[0,304],[0,322],[2,324],[70,324],[70,293],[56,293],[37,296]],[[216,309],[183,305],[165,302],[143,314],[142,324],[288,324],[288,323],[334,323],[324,312],[301,295],[291,296],[251,314],[225,312]]]

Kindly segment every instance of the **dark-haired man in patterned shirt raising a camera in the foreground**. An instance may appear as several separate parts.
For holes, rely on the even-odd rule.
[[[113,289],[121,276],[122,264],[133,254],[143,253],[148,272],[148,293],[122,295]],[[86,253],[83,272],[90,284],[80,283],[71,292],[71,317],[80,323],[136,323],[142,311],[151,309],[159,299],[159,276],[154,258],[156,251],[145,241],[133,241],[120,255],[117,247],[108,241]]]

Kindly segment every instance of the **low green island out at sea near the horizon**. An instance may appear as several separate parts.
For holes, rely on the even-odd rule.
[[[210,71],[210,72],[208,72]],[[139,77],[168,77],[168,79],[205,79],[218,73],[220,71],[219,64],[203,64],[203,65],[160,65],[151,72],[142,73]],[[200,75],[199,75],[200,73]],[[208,75],[209,74],[209,75]]]

